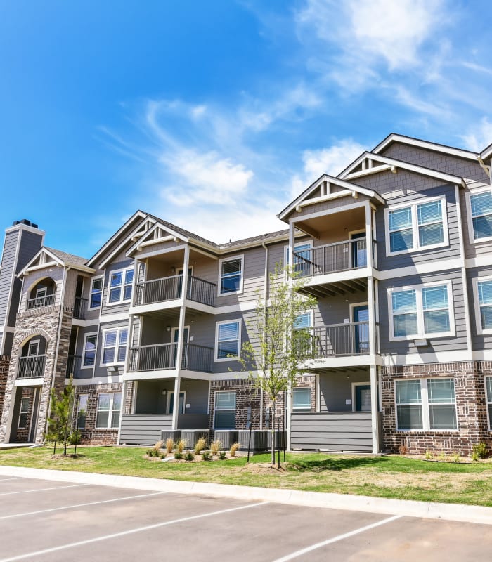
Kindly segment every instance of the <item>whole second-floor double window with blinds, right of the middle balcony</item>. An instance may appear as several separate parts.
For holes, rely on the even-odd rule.
[[[451,281],[388,289],[391,340],[455,335]]]

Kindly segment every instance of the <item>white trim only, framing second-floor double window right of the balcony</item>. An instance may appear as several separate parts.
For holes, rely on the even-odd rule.
[[[434,334],[425,334],[424,332],[424,307],[422,304],[422,289],[429,287],[448,287],[448,312],[449,312],[449,332],[435,332]],[[417,334],[411,336],[394,335],[393,322],[393,299],[392,294],[401,291],[415,290],[416,312],[417,312]],[[420,285],[404,285],[403,287],[388,287],[388,319],[389,319],[389,341],[409,341],[413,339],[436,339],[444,337],[456,336],[454,301],[453,301],[453,283],[451,281],[433,281],[430,283],[422,283]]]

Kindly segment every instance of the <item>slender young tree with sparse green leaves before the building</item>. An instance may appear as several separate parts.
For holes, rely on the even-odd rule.
[[[252,318],[246,320],[250,340],[242,344],[240,362],[257,388],[273,404],[271,462],[275,464],[275,413],[280,393],[296,386],[300,361],[312,357],[311,331],[297,329],[299,315],[316,306],[312,296],[299,294],[289,268],[276,264],[269,275],[269,294],[259,294]]]

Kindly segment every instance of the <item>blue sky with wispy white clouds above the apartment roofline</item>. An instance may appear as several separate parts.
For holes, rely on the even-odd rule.
[[[226,242],[390,132],[492,142],[485,1],[0,0],[0,226],[90,257],[143,209]]]

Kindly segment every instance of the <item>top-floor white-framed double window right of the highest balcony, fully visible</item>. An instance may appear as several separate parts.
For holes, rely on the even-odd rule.
[[[444,196],[390,207],[385,215],[387,256],[448,244]]]

